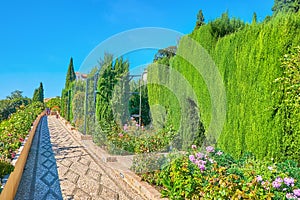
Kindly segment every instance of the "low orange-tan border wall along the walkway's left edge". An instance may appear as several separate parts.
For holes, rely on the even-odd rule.
[[[27,161],[27,157],[29,154],[29,150],[31,148],[32,140],[34,138],[36,129],[38,124],[40,123],[40,119],[45,115],[45,111],[42,112],[33,122],[33,127],[29,132],[29,137],[27,142],[24,145],[24,148],[22,149],[22,152],[20,153],[20,156],[15,164],[15,169],[14,171],[10,174],[3,191],[0,194],[0,200],[5,199],[5,200],[13,200],[17,190],[19,183],[22,178],[23,170]]]

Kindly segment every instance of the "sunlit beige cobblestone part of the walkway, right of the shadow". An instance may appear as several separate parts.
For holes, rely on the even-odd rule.
[[[143,199],[107,163],[95,161],[61,120],[48,117],[63,199]]]

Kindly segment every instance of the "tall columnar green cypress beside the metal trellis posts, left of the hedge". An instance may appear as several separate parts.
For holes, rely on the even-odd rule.
[[[113,109],[118,108],[116,104],[124,102],[123,98],[128,96],[128,83],[125,77],[129,71],[129,63],[123,58],[116,58],[113,61],[113,56],[106,54],[100,65],[96,100],[96,121],[100,127],[100,133],[96,136],[96,140],[102,145],[107,145],[106,137],[120,131],[117,123],[122,122],[123,117],[115,116]],[[117,94],[116,91],[120,93]],[[119,109],[122,108],[124,107],[121,106]]]

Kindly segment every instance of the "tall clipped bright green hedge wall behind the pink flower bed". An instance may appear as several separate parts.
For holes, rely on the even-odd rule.
[[[237,157],[250,151],[258,158],[282,158],[286,155],[280,145],[284,131],[280,117],[274,114],[276,99],[272,92],[278,87],[274,80],[282,75],[280,59],[291,47],[300,44],[300,13],[278,14],[269,21],[247,24],[224,37],[215,35],[212,23],[208,23],[189,36],[211,55],[226,89],[226,121],[217,145]],[[186,47],[180,43],[178,51],[181,48]],[[197,95],[200,119],[207,129],[212,108],[205,82],[180,56],[171,60],[170,67],[192,86]],[[149,68],[148,71],[151,82],[155,70]],[[160,71],[159,76],[168,77],[169,74]],[[180,87],[180,83],[174,84]],[[184,88],[178,89],[184,91]],[[149,85],[148,91],[150,106],[166,102],[176,104],[169,95],[160,95],[163,89],[157,86]],[[178,119],[180,113],[177,110],[172,115],[171,118]]]

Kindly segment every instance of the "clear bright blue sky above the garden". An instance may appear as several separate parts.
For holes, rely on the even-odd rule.
[[[205,21],[228,10],[250,22],[253,12],[259,21],[271,15],[272,5],[273,0],[1,1],[0,99],[14,90],[32,97],[40,82],[45,97],[60,95],[70,57],[79,70],[92,49],[122,31],[162,27],[187,34],[199,9]],[[150,61],[145,57],[142,62]]]

